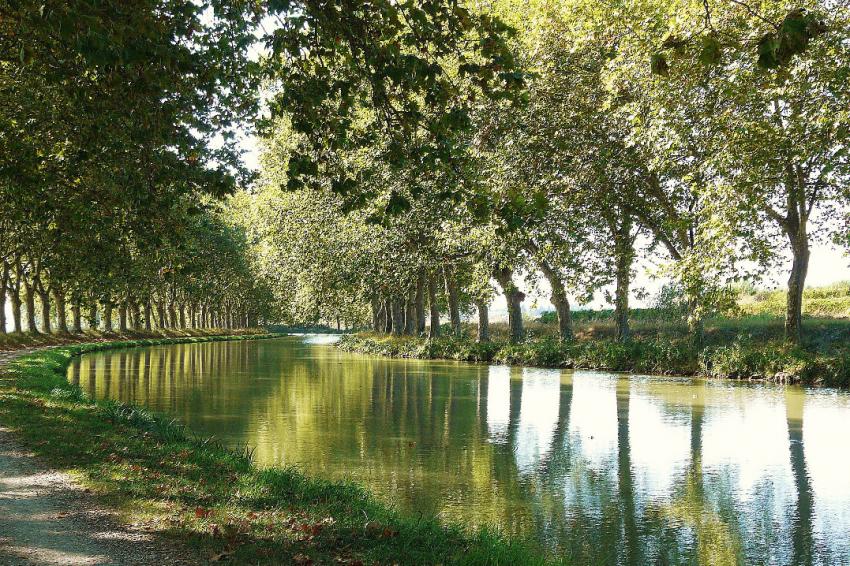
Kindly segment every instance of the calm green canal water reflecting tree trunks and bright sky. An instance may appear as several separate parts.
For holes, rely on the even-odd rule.
[[[388,360],[327,337],[88,354],[90,395],[583,564],[850,564],[850,395]]]

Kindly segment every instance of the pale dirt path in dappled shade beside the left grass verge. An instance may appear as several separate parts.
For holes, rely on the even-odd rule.
[[[3,366],[24,351],[0,352]],[[0,422],[0,565],[196,564],[121,524],[65,473],[50,470]]]

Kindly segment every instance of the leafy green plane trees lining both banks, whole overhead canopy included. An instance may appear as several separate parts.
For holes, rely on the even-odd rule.
[[[482,340],[497,291],[514,340],[531,289],[564,339],[601,292],[628,340],[641,262],[699,342],[733,285],[791,259],[799,340],[810,242],[846,241],[849,10],[7,2],[0,290],[17,328],[38,298],[44,328],[66,301],[214,304],[432,335],[477,312]]]

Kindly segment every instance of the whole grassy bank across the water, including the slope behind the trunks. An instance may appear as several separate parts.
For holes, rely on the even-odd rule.
[[[632,340],[620,343],[614,339],[613,322],[592,318],[576,323],[576,339],[570,342],[558,340],[554,324],[534,322],[521,344],[509,344],[505,325],[494,324],[493,341],[486,344],[475,342],[475,328],[465,325],[459,339],[360,333],[344,336],[338,345],[391,357],[850,387],[850,321],[807,319],[804,328],[802,346],[786,343],[782,320],[770,317],[710,320],[703,348],[693,346],[678,321],[638,320]]]

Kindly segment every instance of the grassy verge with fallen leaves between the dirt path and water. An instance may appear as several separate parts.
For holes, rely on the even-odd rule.
[[[240,339],[263,336],[244,336]],[[543,564],[498,534],[400,515],[362,488],[260,469],[250,452],[194,437],[141,408],[93,401],[65,371],[104,348],[219,340],[84,344],[27,354],[0,381],[0,421],[104,502],[184,541],[202,559],[267,564]]]

